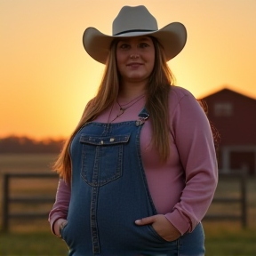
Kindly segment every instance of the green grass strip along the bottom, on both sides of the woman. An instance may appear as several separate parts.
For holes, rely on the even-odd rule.
[[[255,230],[242,229],[234,225],[228,228],[220,223],[206,223],[206,256],[255,256]],[[213,230],[213,232],[211,231]],[[235,232],[234,232],[235,231]],[[68,255],[66,244],[51,232],[12,232],[0,234],[2,256],[63,256]]]

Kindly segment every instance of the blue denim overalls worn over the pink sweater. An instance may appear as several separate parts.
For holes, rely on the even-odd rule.
[[[167,242],[151,225],[134,223],[157,214],[140,156],[140,131],[148,116],[144,108],[137,121],[87,123],[76,133],[70,152],[68,225],[61,230],[69,255],[204,255],[201,225],[193,233]],[[186,239],[192,234],[191,244]]]

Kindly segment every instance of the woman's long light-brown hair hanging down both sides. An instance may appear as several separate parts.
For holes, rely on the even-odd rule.
[[[151,37],[151,39],[155,46],[156,56],[155,66],[152,74],[149,76],[148,86],[146,88],[145,107],[152,120],[153,145],[158,149],[161,159],[165,161],[170,154],[168,95],[171,90],[170,85],[174,83],[174,76],[166,63],[162,45],[158,43],[155,37]],[[69,148],[76,132],[85,123],[92,121],[104,109],[116,101],[120,82],[120,75],[116,68],[117,42],[113,41],[111,44],[105,71],[96,96],[87,104],[79,124],[77,124],[75,131],[65,142],[60,156],[52,166],[53,171],[58,172],[60,177],[68,184],[71,182],[72,172]]]

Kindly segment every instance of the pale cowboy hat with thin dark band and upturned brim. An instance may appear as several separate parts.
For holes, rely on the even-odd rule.
[[[164,47],[166,59],[171,60],[181,52],[187,41],[187,31],[180,22],[172,22],[158,29],[156,19],[143,6],[124,6],[112,24],[112,36],[96,28],[86,28],[83,36],[85,51],[100,63],[105,64],[112,41],[131,36],[154,36]]]

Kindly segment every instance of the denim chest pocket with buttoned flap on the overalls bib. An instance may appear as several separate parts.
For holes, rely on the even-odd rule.
[[[92,187],[100,187],[120,178],[124,146],[129,139],[130,134],[104,137],[82,134],[83,180]]]

